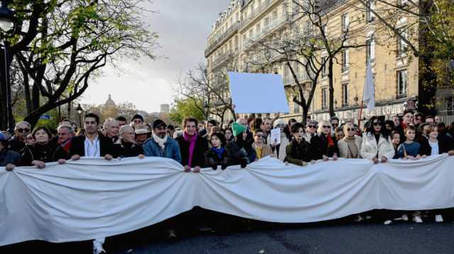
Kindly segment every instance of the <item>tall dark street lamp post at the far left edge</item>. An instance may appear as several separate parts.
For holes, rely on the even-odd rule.
[[[8,8],[8,3],[6,0],[1,1],[0,7],[0,29],[1,33],[8,33],[9,30],[13,27],[13,18],[14,12]],[[6,37],[6,36],[3,36]],[[5,115],[6,115],[6,123],[8,125],[8,131],[13,132],[13,109],[11,108],[11,83],[9,83],[9,66],[10,66],[10,59],[8,55],[9,43],[6,39],[3,40],[2,52],[1,52],[1,100],[4,101],[5,105]]]

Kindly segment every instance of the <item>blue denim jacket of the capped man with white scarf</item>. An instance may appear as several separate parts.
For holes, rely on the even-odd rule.
[[[170,137],[167,137],[164,151],[162,151],[159,144],[157,144],[153,138],[148,139],[145,144],[143,144],[143,151],[145,152],[145,156],[173,158],[175,161],[182,163],[182,155],[179,153],[178,142]]]

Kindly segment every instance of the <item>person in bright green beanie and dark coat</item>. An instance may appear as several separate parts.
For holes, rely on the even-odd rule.
[[[252,148],[252,140],[244,125],[238,122],[232,124],[233,139],[228,143],[227,149],[231,152],[232,165],[240,165],[245,168],[247,164],[255,161],[255,150]]]

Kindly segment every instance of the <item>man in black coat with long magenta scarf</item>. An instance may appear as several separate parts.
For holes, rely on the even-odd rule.
[[[197,122],[195,118],[185,118],[183,135],[177,138],[184,170],[189,172],[194,168],[195,173],[200,172],[200,168],[204,166],[204,154],[209,148],[208,141],[200,137],[197,132]]]

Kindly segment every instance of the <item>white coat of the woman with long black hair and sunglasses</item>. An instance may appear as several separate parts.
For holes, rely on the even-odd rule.
[[[378,154],[378,157],[377,157]],[[380,134],[380,139],[375,139],[373,134],[367,133],[362,137],[361,144],[361,157],[372,160],[372,158],[386,157],[388,160],[394,157],[394,146],[392,146],[391,137],[384,139],[383,135]]]

